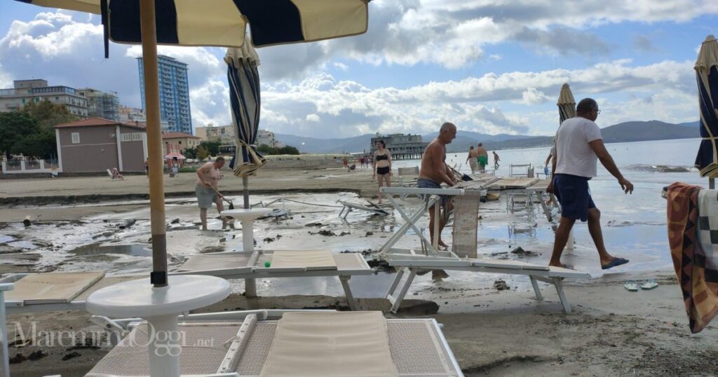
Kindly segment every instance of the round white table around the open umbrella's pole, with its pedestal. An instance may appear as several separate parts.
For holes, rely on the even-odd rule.
[[[151,377],[180,376],[182,334],[177,317],[192,309],[220,302],[232,292],[229,282],[215,276],[167,276],[167,287],[155,288],[147,279],[124,281],[99,289],[86,309],[106,317],[141,317],[148,322]]]

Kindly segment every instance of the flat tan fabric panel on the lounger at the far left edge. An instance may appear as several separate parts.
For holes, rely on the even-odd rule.
[[[67,303],[105,276],[104,272],[54,272],[29,274],[15,282],[15,289],[5,293],[7,301],[24,304]]]

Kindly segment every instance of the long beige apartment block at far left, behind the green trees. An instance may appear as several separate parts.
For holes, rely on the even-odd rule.
[[[88,99],[78,90],[63,85],[49,86],[47,80],[14,80],[13,88],[0,89],[0,111],[14,111],[25,103],[50,101],[77,116],[88,116]]]

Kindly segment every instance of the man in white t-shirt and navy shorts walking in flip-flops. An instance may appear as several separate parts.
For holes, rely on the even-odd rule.
[[[627,264],[628,259],[611,256],[603,243],[601,212],[591,198],[588,181],[596,177],[596,162],[601,164],[618,180],[626,194],[633,193],[633,184],[626,180],[601,137],[601,129],[594,123],[598,114],[598,103],[584,98],[576,108],[577,116],[564,121],[556,132],[556,152],[548,192],[554,192],[561,203],[561,223],[556,230],[554,253],[549,266],[565,267],[561,264],[561,252],[569,238],[576,220],[588,220],[588,230],[596,245],[602,269]]]

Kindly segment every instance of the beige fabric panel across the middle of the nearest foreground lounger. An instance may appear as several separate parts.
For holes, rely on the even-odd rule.
[[[381,312],[286,313],[262,377],[396,376]]]

